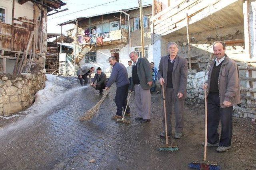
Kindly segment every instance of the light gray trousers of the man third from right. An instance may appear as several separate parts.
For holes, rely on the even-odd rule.
[[[150,89],[144,90],[140,85],[134,85],[135,103],[139,117],[150,119],[151,94]]]

